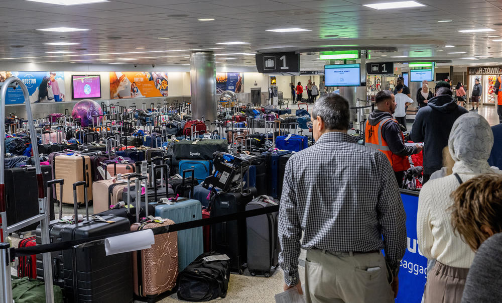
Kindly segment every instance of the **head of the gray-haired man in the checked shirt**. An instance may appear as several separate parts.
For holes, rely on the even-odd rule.
[[[350,111],[348,101],[337,93],[322,96],[314,105],[312,118],[321,117],[328,130],[348,130]]]

